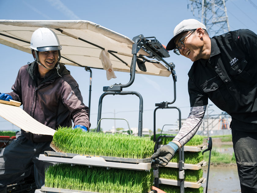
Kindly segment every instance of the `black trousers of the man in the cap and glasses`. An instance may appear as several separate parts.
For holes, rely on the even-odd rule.
[[[233,130],[232,141],[242,193],[257,193],[257,132]]]

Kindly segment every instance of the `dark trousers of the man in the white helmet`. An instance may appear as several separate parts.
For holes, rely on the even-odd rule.
[[[32,143],[24,135],[20,135],[20,132],[16,134],[16,138],[0,154],[0,190],[15,182],[33,165],[39,172],[40,179],[37,180],[42,183],[38,184],[41,187],[45,182],[45,169],[53,164],[40,161],[38,157],[51,150],[50,142]]]

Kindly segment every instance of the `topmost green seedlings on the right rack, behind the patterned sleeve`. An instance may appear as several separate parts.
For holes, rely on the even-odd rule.
[[[162,135],[175,135],[175,134],[162,134]],[[160,136],[160,134],[156,134],[156,139]],[[151,140],[153,140],[153,135],[151,136]],[[159,145],[166,145],[171,142],[173,138],[161,138]],[[203,136],[195,135],[189,142],[185,144],[185,146],[199,146],[203,144]]]

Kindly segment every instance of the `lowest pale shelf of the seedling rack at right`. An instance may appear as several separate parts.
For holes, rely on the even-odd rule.
[[[187,181],[184,181],[184,187],[199,188],[205,182],[206,182],[206,178],[201,178],[197,182],[187,182]],[[167,185],[173,185],[173,186],[180,186],[180,181],[178,181],[178,180],[169,180],[169,179],[165,179],[165,178],[159,178],[159,184],[167,184]]]

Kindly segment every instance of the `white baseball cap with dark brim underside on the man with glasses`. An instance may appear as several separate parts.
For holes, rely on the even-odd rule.
[[[175,39],[177,36],[183,32],[188,32],[193,29],[197,28],[203,28],[206,30],[205,25],[203,25],[200,21],[196,19],[186,19],[181,21],[174,29],[173,31],[173,38],[169,41],[169,43],[166,46],[166,50],[173,50],[175,45]]]

